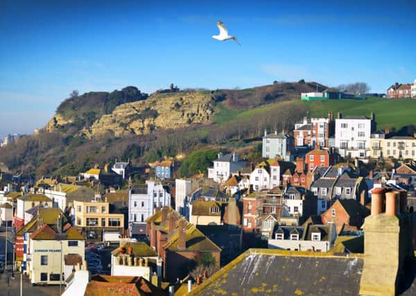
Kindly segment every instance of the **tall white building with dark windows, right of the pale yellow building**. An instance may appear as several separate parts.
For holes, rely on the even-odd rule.
[[[155,214],[158,207],[171,207],[171,194],[158,181],[146,181],[147,188],[132,189],[128,196],[130,235],[145,234],[146,219]]]

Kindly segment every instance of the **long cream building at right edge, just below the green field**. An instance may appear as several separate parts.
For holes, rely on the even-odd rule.
[[[371,138],[370,157],[416,160],[416,139],[414,137]]]

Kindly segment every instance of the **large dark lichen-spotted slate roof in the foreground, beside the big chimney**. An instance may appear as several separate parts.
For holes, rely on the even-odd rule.
[[[189,295],[358,295],[362,271],[358,256],[250,249]]]

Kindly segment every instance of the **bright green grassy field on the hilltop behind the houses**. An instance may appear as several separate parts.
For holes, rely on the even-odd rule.
[[[399,129],[405,125],[416,125],[416,100],[390,100],[374,97],[369,97],[366,100],[284,101],[250,110],[229,110],[224,105],[218,105],[214,121],[222,124],[238,119],[250,119],[254,114],[268,110],[279,110],[284,105],[306,105],[313,117],[326,117],[330,111],[333,112],[334,118],[336,118],[337,112],[341,112],[343,116],[370,117],[371,112],[374,112],[379,129],[385,127]]]

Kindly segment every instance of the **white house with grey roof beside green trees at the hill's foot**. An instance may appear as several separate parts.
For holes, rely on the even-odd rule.
[[[218,159],[214,160],[214,166],[208,168],[208,177],[215,182],[225,182],[234,171],[245,166],[245,162],[239,160],[236,153],[223,155],[218,153]]]

